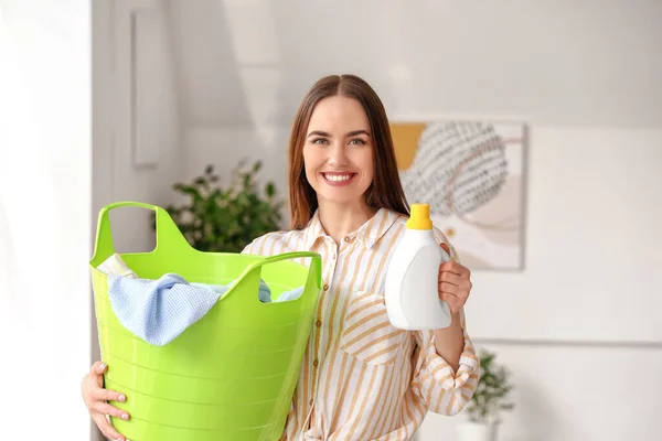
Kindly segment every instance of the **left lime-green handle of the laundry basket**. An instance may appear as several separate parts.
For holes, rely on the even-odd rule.
[[[115,254],[108,213],[120,207],[147,208],[156,213],[157,247],[154,248],[154,252],[159,247],[166,247],[170,251],[174,249],[182,252],[186,252],[192,248],[166,209],[141,202],[115,202],[104,206],[99,212],[94,255],[92,257],[93,261],[105,260]]]

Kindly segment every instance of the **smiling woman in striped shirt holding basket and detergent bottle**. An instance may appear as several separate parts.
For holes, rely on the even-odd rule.
[[[282,440],[410,440],[428,410],[459,412],[479,378],[462,313],[470,273],[436,230],[453,260],[439,267],[439,297],[451,306],[452,324],[407,332],[388,323],[385,271],[408,206],[386,112],[363,79],[324,77],[303,98],[289,146],[289,187],[291,230],[244,250],[322,256],[323,290]],[[125,399],[103,389],[106,368],[92,367],[83,396],[102,432],[124,441],[105,418],[122,417],[106,400]]]

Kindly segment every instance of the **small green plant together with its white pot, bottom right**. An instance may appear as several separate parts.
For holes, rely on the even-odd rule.
[[[502,413],[514,408],[509,400],[513,389],[510,370],[495,358],[495,353],[480,353],[481,376],[467,406],[469,421],[458,427],[461,441],[496,441]]]

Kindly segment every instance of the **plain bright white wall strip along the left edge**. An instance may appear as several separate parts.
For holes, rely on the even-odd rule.
[[[3,439],[89,438],[89,2],[0,1]]]

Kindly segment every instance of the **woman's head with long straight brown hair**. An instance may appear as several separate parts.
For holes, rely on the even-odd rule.
[[[409,213],[386,110],[354,75],[312,86],[295,117],[289,163],[292,228],[305,227],[325,202],[373,214],[375,207]]]

